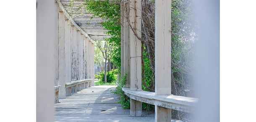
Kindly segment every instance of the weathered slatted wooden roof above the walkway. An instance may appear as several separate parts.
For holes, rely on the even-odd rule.
[[[84,4],[83,0],[78,0],[72,3],[72,7],[68,6],[71,4],[71,0],[56,0],[61,10],[65,13],[66,19],[70,20],[72,24],[80,27],[89,38],[92,40],[104,40],[104,38],[110,38],[110,35],[105,34],[107,30],[104,30],[104,27],[99,25],[99,23],[105,21],[100,17],[92,17],[92,13],[86,11],[85,8],[81,8],[76,11],[81,4]],[[85,35],[86,35],[85,34]]]

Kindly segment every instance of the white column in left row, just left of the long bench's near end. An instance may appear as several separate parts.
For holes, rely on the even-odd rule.
[[[61,10],[61,9],[60,9]],[[65,15],[59,12],[59,98],[64,99],[65,95]]]

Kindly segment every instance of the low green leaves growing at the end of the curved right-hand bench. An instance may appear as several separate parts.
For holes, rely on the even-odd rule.
[[[120,101],[118,101],[117,103],[122,104],[123,109],[130,109],[131,99],[127,97],[124,91],[122,90],[122,88],[125,86],[126,77],[127,77],[127,74],[125,73],[125,75],[120,79],[118,83],[119,85],[116,87],[117,90],[111,91],[111,93],[118,94],[120,96]]]

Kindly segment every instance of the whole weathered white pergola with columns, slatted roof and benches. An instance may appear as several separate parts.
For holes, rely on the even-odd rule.
[[[52,100],[55,99],[55,102],[58,102],[59,98],[64,99],[71,93],[94,86],[94,41],[110,37],[104,34],[106,30],[99,25],[103,21],[101,18],[94,17],[91,20],[91,13],[84,10],[70,15],[72,10],[76,10],[83,3],[82,1],[76,2],[74,8],[69,8],[70,2],[71,0],[37,0],[37,91],[41,91],[37,92],[38,120],[52,121],[54,119]],[[130,6],[122,3],[121,10],[129,8],[130,12],[125,14],[121,11],[121,15],[129,15],[126,19],[130,20],[131,27],[141,30],[141,0],[124,0],[125,2],[128,2]],[[219,2],[214,4],[219,5]],[[170,5],[171,0],[155,0],[155,92],[141,91],[141,41],[135,36],[136,34],[140,36],[141,32],[131,31],[125,18],[121,18],[121,23],[124,25],[121,27],[121,76],[124,72],[128,73],[123,91],[131,98],[130,114],[132,117],[141,117],[141,102],[155,105],[155,122],[170,122],[171,109],[194,113],[193,108],[199,107],[200,101],[198,102],[196,98],[171,95]],[[211,7],[212,3],[202,6],[205,5]],[[208,8],[201,11],[204,10]],[[218,11],[215,13],[219,14]],[[215,16],[209,15],[209,18],[215,19]],[[201,19],[201,22],[205,22],[204,19]],[[215,29],[213,32],[218,31],[216,26],[219,23],[210,25],[212,25],[210,28]],[[201,37],[207,40],[204,42],[210,42],[215,47],[219,46],[219,33],[212,34],[201,30],[199,34],[204,35],[205,37]],[[212,38],[209,39],[209,37]],[[201,47],[203,47],[201,48],[203,53],[201,57],[199,56],[200,61],[201,58],[204,58],[206,62],[218,61],[218,49],[206,50],[211,46],[205,43]],[[214,54],[206,55],[210,51],[214,51]],[[214,88],[218,89],[219,82],[216,83],[219,80],[218,62],[212,64],[202,62],[201,64],[198,72],[201,71],[200,73],[204,75],[200,76],[199,81],[204,83],[207,80],[215,84]],[[55,91],[52,89],[53,86],[55,86]],[[209,88],[207,85],[200,87],[204,88],[201,91],[199,89],[201,93],[207,90],[205,88]],[[217,99],[219,99],[218,93],[218,90],[214,91]],[[207,97],[201,97],[200,100],[204,103],[212,103]],[[207,108],[212,107],[213,114],[218,114],[218,109],[214,109],[214,104],[219,106],[218,100],[214,101],[213,105],[201,107],[199,112],[204,115]]]

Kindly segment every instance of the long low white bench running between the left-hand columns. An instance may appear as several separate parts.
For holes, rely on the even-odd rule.
[[[71,96],[72,93],[81,91],[81,89],[91,87],[92,79],[84,79],[80,81],[71,81],[70,83],[65,83],[66,96]]]

